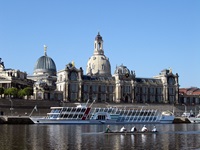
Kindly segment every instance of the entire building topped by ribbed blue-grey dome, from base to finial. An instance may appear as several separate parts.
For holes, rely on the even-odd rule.
[[[33,99],[61,100],[61,92],[56,91],[56,65],[51,57],[47,56],[47,46],[44,45],[44,56],[41,56],[35,63],[33,76]]]

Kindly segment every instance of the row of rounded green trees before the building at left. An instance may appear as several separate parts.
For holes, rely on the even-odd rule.
[[[26,87],[24,89],[17,89],[17,88],[7,88],[4,89],[3,87],[0,87],[0,97],[2,98],[2,95],[4,97],[9,96],[13,98],[23,98],[24,96],[31,96],[33,95],[33,88],[32,87]]]

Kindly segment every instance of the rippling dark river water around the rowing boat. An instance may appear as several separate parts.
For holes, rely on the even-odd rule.
[[[135,125],[138,129],[142,124]],[[146,124],[152,129],[152,124]],[[132,125],[125,125],[131,129]],[[106,125],[0,125],[0,150],[200,149],[200,124],[156,124],[156,134],[106,135]],[[120,130],[121,125],[111,125]]]

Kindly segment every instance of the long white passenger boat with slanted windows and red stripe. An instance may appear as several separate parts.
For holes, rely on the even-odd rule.
[[[92,104],[94,101],[92,102]],[[51,107],[46,117],[30,117],[37,124],[135,124],[172,123],[172,112],[154,109],[105,107],[93,108],[92,104],[78,103],[76,107]]]

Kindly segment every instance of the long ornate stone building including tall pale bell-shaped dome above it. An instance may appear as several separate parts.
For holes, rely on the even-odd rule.
[[[171,69],[153,78],[136,77],[126,66],[117,66],[111,75],[109,59],[104,55],[103,38],[98,33],[94,53],[89,58],[86,75],[74,63],[57,72],[57,90],[69,102],[96,99],[98,102],[178,103],[178,74]]]

